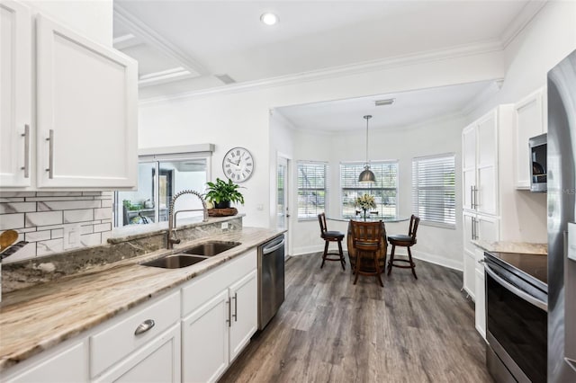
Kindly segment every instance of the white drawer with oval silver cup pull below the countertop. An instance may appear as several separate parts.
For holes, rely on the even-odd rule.
[[[136,350],[144,343],[161,334],[180,319],[180,294],[175,292],[156,303],[138,309],[134,313],[112,321],[100,333],[90,337],[90,372],[91,377],[106,370],[112,364]],[[139,325],[154,321],[148,331],[135,334]]]

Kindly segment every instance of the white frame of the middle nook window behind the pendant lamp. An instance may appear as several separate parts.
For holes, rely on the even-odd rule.
[[[399,209],[400,209],[400,200],[399,200],[399,189],[400,189],[400,161],[398,159],[387,159],[387,160],[377,160],[377,161],[370,161],[370,169],[374,171],[374,166],[376,165],[387,165],[387,164],[394,164],[396,165],[396,187],[395,188],[380,188],[380,187],[374,187],[372,184],[368,183],[366,184],[365,187],[344,187],[344,185],[342,184],[343,182],[343,174],[342,174],[342,170],[344,166],[355,166],[358,167],[355,171],[356,174],[356,178],[357,176],[360,174],[360,172],[362,170],[364,170],[364,166],[365,166],[365,162],[364,161],[342,161],[340,162],[340,166],[339,166],[339,191],[340,191],[340,199],[339,199],[339,205],[340,205],[340,210],[339,210],[339,215],[340,218],[362,218],[362,213],[359,215],[354,215],[352,217],[348,217],[347,215],[344,214],[344,193],[345,193],[345,189],[348,191],[363,191],[363,190],[377,190],[377,191],[395,191],[395,200],[396,200],[396,204],[394,206],[394,216],[390,217],[390,216],[383,216],[382,212],[383,209],[379,209],[379,212],[382,211],[377,217],[374,215],[371,215],[372,218],[380,218],[380,219],[391,219],[391,220],[395,220],[399,218]],[[378,179],[376,177],[376,183],[378,182]],[[355,183],[358,183],[357,181]],[[356,196],[357,197],[357,196]],[[381,202],[380,205],[381,207],[385,206],[385,203]]]

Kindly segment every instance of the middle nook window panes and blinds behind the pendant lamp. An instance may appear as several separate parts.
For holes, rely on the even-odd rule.
[[[342,187],[342,218],[357,218],[356,198],[364,194],[374,196],[376,209],[373,218],[396,218],[398,216],[398,161],[379,161],[370,164],[376,182],[358,183],[358,175],[364,170],[364,163],[340,164],[340,185]],[[357,213],[356,213],[357,212]]]

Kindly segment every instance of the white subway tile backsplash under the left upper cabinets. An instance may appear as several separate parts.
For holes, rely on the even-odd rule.
[[[0,192],[0,232],[14,229],[18,241],[29,242],[2,262],[67,250],[65,228],[80,228],[76,248],[106,243],[112,235],[112,199],[112,191]]]

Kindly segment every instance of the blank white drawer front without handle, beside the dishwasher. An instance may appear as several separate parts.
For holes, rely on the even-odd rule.
[[[250,250],[182,288],[182,316],[187,316],[230,283],[257,269],[257,250]]]

